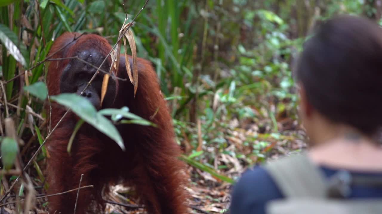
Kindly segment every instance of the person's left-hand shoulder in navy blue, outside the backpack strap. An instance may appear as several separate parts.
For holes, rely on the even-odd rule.
[[[234,185],[231,213],[264,213],[268,201],[282,197],[265,168],[256,166],[244,172]]]

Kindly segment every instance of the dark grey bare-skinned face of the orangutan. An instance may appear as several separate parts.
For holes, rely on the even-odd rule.
[[[81,50],[74,55],[77,55],[79,58],[91,63],[95,67],[98,67],[105,59],[105,56],[95,50],[95,48]],[[109,62],[105,61],[101,69],[108,72],[110,69]],[[97,110],[101,109],[101,87],[104,73],[99,72],[91,84],[81,94],[81,91],[83,91],[83,89],[86,87],[87,83],[91,80],[96,70],[97,69],[91,65],[88,65],[77,59],[71,59],[61,75],[60,92],[77,93],[78,95],[86,97]],[[112,106],[117,95],[116,90],[117,88],[115,81],[110,77],[104,102],[102,103],[102,108],[108,108]]]

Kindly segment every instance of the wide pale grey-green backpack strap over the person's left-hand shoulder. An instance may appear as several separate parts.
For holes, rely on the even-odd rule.
[[[305,153],[269,161],[264,165],[285,197],[325,198],[325,177]]]

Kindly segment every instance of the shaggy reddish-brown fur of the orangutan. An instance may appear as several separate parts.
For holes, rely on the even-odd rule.
[[[50,54],[73,41],[76,33],[65,33],[54,42]],[[72,42],[53,58],[72,56],[74,51],[89,45],[99,48],[104,55],[112,49],[107,40],[98,35],[83,35]],[[68,60],[52,61],[47,74],[49,94],[60,93],[59,80]],[[130,58],[131,62],[131,58]],[[125,58],[121,57],[118,77],[127,78]],[[108,184],[123,181],[133,184],[141,195],[149,213],[185,214],[187,213],[186,193],[182,187],[186,182],[184,165],[178,160],[180,147],[175,142],[172,118],[167,103],[160,93],[157,76],[149,61],[138,59],[138,90],[134,98],[133,85],[128,81],[118,81],[117,98],[113,108],[128,106],[133,112],[159,127],[140,125],[121,125],[118,127],[125,142],[126,151],[99,131],[84,125],[77,133],[69,155],[66,147],[73,132],[77,117],[70,113],[54,131],[47,142],[48,158],[47,180],[49,194],[94,185],[94,188],[81,189],[76,214],[83,214],[92,199],[102,203],[101,193],[107,191]],[[52,104],[52,127],[65,113],[66,109]],[[50,213],[57,210],[62,214],[73,213],[77,192],[49,198]]]

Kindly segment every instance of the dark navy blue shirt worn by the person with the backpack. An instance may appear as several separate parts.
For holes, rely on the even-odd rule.
[[[320,166],[326,177],[338,169]],[[382,173],[350,172],[353,176],[382,176]],[[352,186],[349,198],[382,198],[382,187]],[[262,166],[243,173],[232,192],[231,214],[265,214],[265,205],[274,199],[283,198],[274,180]]]

